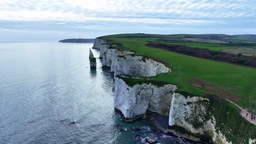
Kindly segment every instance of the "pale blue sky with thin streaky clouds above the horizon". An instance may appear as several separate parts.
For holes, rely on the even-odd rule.
[[[0,40],[256,34],[254,0],[0,0]]]

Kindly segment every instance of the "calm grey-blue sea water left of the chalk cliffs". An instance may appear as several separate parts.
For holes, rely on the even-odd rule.
[[[188,143],[155,134],[151,118],[123,122],[114,111],[113,76],[100,59],[90,69],[90,47],[0,43],[0,143]]]

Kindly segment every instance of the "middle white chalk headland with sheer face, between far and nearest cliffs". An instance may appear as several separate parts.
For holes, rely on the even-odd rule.
[[[130,87],[122,79],[115,77],[114,107],[123,113],[126,121],[144,116],[146,111],[168,115],[175,85],[155,86],[142,83]]]

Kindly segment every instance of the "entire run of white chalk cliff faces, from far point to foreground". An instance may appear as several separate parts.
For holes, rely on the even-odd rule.
[[[115,77],[114,107],[126,121],[144,116],[146,111],[169,115],[169,125],[182,127],[194,135],[208,135],[212,143],[232,143],[216,128],[215,118],[209,113],[210,100],[203,97],[174,93],[177,86],[156,86],[140,83],[129,86],[121,76],[155,76],[171,72],[170,68],[153,59],[134,56],[131,51],[113,49],[107,41],[96,38],[94,49],[100,50],[102,65],[110,67]],[[253,137],[254,138],[254,137]],[[255,143],[249,139],[249,143]]]

